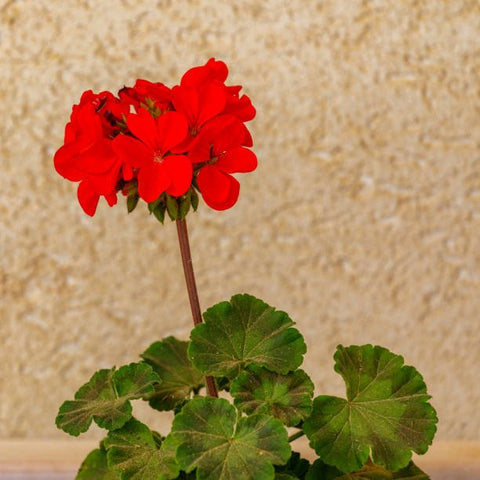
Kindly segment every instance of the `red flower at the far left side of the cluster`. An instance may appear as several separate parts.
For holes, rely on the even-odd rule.
[[[121,162],[112,150],[111,136],[119,131],[116,122],[124,111],[125,107],[110,92],[84,92],[65,127],[64,145],[55,153],[57,172],[81,182],[78,200],[88,215],[95,213],[100,196],[110,206],[117,201]]]

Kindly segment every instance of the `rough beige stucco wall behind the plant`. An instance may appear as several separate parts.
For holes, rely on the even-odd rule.
[[[337,343],[387,346],[439,438],[480,438],[478,0],[2,0],[0,20],[1,437],[63,438],[95,369],[188,336],[175,226],[87,217],[52,156],[82,91],[215,56],[257,107],[259,168],[189,217],[202,305],[288,311],[317,394],[343,391]]]

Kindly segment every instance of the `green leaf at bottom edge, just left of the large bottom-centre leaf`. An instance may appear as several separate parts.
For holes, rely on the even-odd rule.
[[[108,466],[122,480],[169,480],[179,474],[175,440],[167,437],[158,446],[150,429],[134,418],[110,432],[104,444]]]

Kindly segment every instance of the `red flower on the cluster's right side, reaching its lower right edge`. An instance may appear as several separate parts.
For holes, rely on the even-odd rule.
[[[242,146],[243,141],[243,124],[232,115],[221,115],[192,144],[188,157],[199,168],[198,187],[205,203],[215,210],[226,210],[237,202],[240,184],[231,174],[257,167],[257,157]]]

